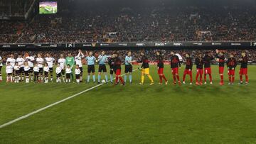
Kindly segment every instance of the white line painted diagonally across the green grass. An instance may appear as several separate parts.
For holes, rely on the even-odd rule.
[[[136,69],[137,70],[137,69]],[[134,71],[136,71],[136,70],[133,70],[133,72]],[[121,76],[124,76],[124,74],[122,74]],[[115,79],[115,78],[114,78]],[[114,80],[113,79],[113,80]],[[8,123],[4,123],[4,124],[2,124],[1,126],[0,126],[0,129],[1,128],[4,128],[4,127],[6,127],[6,126],[9,126],[9,125],[11,125],[12,123],[16,123],[17,121],[21,121],[21,120],[23,120],[24,118],[28,118],[29,116],[32,116],[32,115],[34,115],[34,114],[36,114],[36,113],[39,113],[40,111],[44,111],[44,110],[46,110],[46,109],[48,109],[48,108],[50,108],[50,107],[52,107],[52,106],[55,106],[55,105],[57,105],[57,104],[60,104],[60,103],[62,103],[62,102],[64,102],[64,101],[68,101],[68,99],[72,99],[72,98],[74,98],[75,96],[78,96],[78,95],[80,95],[80,94],[83,94],[83,93],[85,93],[85,92],[88,92],[88,91],[90,91],[90,90],[92,90],[92,89],[95,89],[95,88],[97,88],[97,87],[100,87],[100,86],[102,86],[103,84],[97,84],[95,87],[91,87],[91,88],[89,88],[89,89],[86,89],[86,90],[84,90],[84,91],[82,91],[82,92],[79,92],[78,94],[74,94],[73,96],[69,96],[69,97],[67,97],[67,98],[65,98],[65,99],[62,99],[62,100],[60,100],[60,101],[57,101],[57,102],[55,102],[55,103],[53,103],[53,104],[50,104],[50,105],[48,105],[48,106],[45,106],[45,107],[43,107],[43,108],[41,108],[41,109],[38,109],[38,110],[36,110],[36,111],[33,111],[33,112],[31,112],[31,113],[28,113],[28,114],[26,114],[26,115],[24,115],[24,116],[21,116],[21,117],[19,117],[19,118],[16,118],[16,119],[14,119],[14,120],[12,120],[12,121],[9,121]]]

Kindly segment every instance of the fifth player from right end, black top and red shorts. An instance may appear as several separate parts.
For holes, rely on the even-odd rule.
[[[198,83],[198,77],[200,75],[200,83]],[[203,82],[202,82],[202,79],[203,79],[203,57],[202,57],[202,54],[199,53],[198,54],[198,57],[196,57],[196,85],[202,85]]]

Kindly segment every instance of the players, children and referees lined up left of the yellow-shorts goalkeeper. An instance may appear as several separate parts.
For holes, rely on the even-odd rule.
[[[68,57],[64,57],[63,54],[60,54],[60,58],[56,61],[50,54],[46,54],[46,57],[43,58],[41,53],[38,53],[37,57],[27,55],[22,57],[18,55],[15,59],[14,55],[6,60],[6,82],[44,82],[48,83],[53,82],[53,67],[57,62],[57,67],[55,68],[56,82],[73,82],[73,72],[75,72],[75,79],[77,83],[82,82],[82,59],[85,58],[87,61],[87,82],[90,82],[90,75],[92,75],[93,82],[95,83],[95,63],[99,63],[98,70],[98,83],[100,83],[101,73],[105,74],[105,82],[108,82],[107,76],[107,67],[110,65],[110,82],[113,83],[113,74],[116,74],[115,84],[118,84],[119,80],[124,84],[127,79],[127,74],[129,74],[129,80],[132,83],[132,52],[128,52],[126,57],[126,75],[124,79],[121,77],[121,65],[122,61],[119,59],[118,54],[114,53],[112,55],[105,55],[105,51],[101,52],[99,57],[93,56],[92,52],[86,53],[85,55],[81,50],[78,50],[78,55],[73,57],[71,53],[68,54]],[[128,61],[131,60],[131,61]],[[0,57],[0,82],[2,81],[1,77],[1,67],[2,60]],[[73,68],[75,67],[75,68]],[[75,69],[75,70],[73,70]]]

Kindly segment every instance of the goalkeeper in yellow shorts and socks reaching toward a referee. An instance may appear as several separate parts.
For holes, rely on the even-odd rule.
[[[153,85],[154,84],[154,80],[152,79],[151,75],[149,74],[149,60],[148,58],[144,55],[144,52],[141,52],[141,55],[142,55],[142,59],[140,61],[137,61],[139,63],[142,62],[142,67],[140,70],[142,70],[142,82],[139,83],[141,85],[144,84],[144,78],[145,78],[145,75],[147,77],[149,77],[151,83],[150,85]]]

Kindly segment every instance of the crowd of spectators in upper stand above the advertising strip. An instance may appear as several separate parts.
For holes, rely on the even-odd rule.
[[[0,22],[0,43],[244,41],[256,38],[255,7],[161,6],[60,11],[16,23]]]

